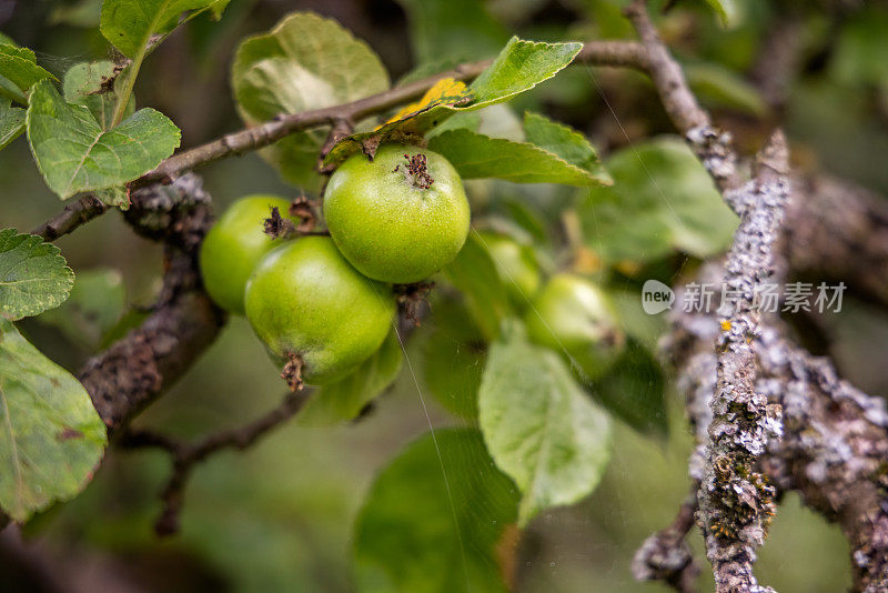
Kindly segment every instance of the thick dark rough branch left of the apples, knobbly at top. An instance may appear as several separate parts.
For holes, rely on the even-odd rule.
[[[79,374],[110,433],[181,376],[225,318],[203,292],[196,252],[210,227],[210,198],[196,175],[133,192],[128,222],[167,245],[163,288],[141,326],[87,362]]]

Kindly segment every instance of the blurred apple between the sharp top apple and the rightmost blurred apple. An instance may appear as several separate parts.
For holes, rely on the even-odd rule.
[[[524,309],[539,289],[539,265],[534,250],[505,234],[483,231],[478,237],[496,265],[509,300]]]

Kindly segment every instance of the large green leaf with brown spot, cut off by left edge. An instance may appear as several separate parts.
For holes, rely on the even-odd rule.
[[[83,385],[0,319],[0,507],[22,522],[72,497],[104,445]]]

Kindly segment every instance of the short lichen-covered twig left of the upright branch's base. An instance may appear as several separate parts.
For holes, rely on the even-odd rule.
[[[635,552],[632,574],[637,581],[662,581],[679,593],[697,591],[700,569],[685,541],[695,524],[697,512],[697,484],[678,509],[675,520],[665,529],[650,535]]]

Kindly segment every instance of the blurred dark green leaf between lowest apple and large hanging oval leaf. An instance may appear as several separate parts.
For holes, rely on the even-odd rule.
[[[422,353],[423,379],[432,395],[447,411],[476,419],[485,352],[436,331],[423,344]]]

